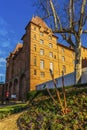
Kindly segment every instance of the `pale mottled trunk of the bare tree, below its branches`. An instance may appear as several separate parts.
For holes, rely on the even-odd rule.
[[[75,48],[75,83],[81,83],[82,76],[82,56],[81,56],[81,40],[77,40]]]

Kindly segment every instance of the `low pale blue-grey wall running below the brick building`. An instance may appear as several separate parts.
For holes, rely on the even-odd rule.
[[[62,77],[56,78],[56,85],[57,87],[62,86]],[[87,67],[82,69],[82,77],[81,77],[81,83],[87,83]],[[42,84],[39,84],[36,86],[36,90],[42,90],[44,85],[47,85],[48,88],[54,88],[53,81],[50,80],[48,82],[44,82]],[[64,85],[70,86],[75,84],[75,72],[64,75]]]

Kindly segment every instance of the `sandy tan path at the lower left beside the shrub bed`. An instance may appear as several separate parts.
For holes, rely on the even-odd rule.
[[[17,126],[17,119],[22,114],[14,114],[0,121],[0,130],[19,130]]]

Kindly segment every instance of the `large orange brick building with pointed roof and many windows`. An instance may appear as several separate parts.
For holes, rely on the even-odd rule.
[[[55,78],[74,71],[75,54],[73,49],[57,43],[46,23],[38,16],[33,17],[25,28],[23,44],[17,44],[7,58],[6,90],[17,99],[24,99],[26,93],[35,90],[37,84],[51,80],[49,69]],[[87,49],[82,47],[85,67]]]

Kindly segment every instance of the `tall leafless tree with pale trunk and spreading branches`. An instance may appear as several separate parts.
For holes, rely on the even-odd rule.
[[[82,75],[82,35],[87,33],[87,0],[36,0],[39,12],[49,20],[53,33],[60,34],[75,51],[76,84]]]

